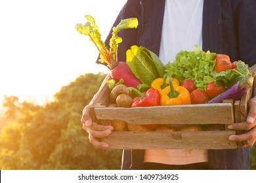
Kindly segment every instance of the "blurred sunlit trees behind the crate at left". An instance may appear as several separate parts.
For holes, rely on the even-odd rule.
[[[121,150],[96,148],[81,128],[83,107],[105,76],[79,76],[44,107],[5,96],[0,169],[121,169]]]

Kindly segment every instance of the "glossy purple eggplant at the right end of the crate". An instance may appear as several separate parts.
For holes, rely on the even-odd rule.
[[[237,101],[241,99],[244,93],[253,86],[253,78],[255,77],[256,73],[251,73],[236,82],[233,86],[228,88],[225,92],[217,95],[207,103],[222,103],[225,99],[232,99],[233,101]]]

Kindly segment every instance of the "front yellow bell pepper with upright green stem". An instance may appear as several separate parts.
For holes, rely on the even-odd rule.
[[[161,90],[161,105],[191,104],[190,93],[183,86],[175,86],[169,78],[169,87]]]

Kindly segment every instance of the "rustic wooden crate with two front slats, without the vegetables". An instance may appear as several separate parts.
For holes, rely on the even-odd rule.
[[[105,80],[109,79],[109,75]],[[245,120],[247,115],[247,92],[241,101],[224,101],[216,104],[177,105],[158,107],[106,107],[109,97],[108,85],[104,84],[93,100],[91,116],[94,121],[123,120],[131,124],[222,124],[227,126]],[[236,133],[227,128],[219,131],[114,131],[102,138],[113,149],[234,149],[247,142],[232,142],[230,135]]]

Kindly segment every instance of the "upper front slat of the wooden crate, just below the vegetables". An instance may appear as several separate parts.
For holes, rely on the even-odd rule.
[[[123,120],[131,124],[232,124],[232,104],[176,105],[135,108],[95,108],[98,119]]]

